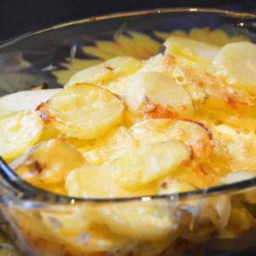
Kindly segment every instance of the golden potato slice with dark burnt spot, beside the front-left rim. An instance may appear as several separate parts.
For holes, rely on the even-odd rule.
[[[52,139],[39,143],[12,162],[11,167],[30,183],[61,183],[66,180],[68,172],[85,163],[76,148],[61,139]]]

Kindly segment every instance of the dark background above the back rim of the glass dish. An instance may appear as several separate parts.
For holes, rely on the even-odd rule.
[[[0,41],[68,20],[168,7],[213,7],[255,12],[256,0],[0,0]]]

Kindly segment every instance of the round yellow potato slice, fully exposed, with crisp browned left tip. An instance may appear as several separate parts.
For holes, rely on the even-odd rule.
[[[92,139],[118,125],[124,108],[123,102],[108,90],[93,84],[74,84],[38,110],[45,122],[68,137]]]

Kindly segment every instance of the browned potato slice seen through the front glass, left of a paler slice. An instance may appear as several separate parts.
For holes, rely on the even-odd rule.
[[[43,224],[49,234],[75,250],[78,255],[98,254],[117,247],[125,247],[128,238],[111,232],[106,225],[93,222],[93,207],[67,206],[52,211],[41,211]]]

